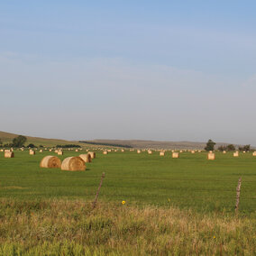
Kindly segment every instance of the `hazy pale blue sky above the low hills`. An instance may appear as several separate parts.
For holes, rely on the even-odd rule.
[[[256,146],[256,2],[0,2],[0,131]]]

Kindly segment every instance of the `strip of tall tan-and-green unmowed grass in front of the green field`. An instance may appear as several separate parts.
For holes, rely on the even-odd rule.
[[[255,218],[83,200],[0,202],[1,255],[253,255]]]

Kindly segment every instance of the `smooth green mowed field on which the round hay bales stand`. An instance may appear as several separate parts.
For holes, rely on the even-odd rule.
[[[81,152],[64,151],[61,160]],[[206,152],[183,152],[172,159],[171,152],[160,157],[136,151],[117,151],[87,163],[86,171],[41,169],[40,161],[54,152],[14,151],[14,159],[0,155],[0,197],[17,200],[83,199],[92,201],[101,175],[105,180],[99,201],[126,206],[175,206],[198,212],[234,211],[238,178],[242,177],[240,213],[256,215],[256,157],[250,153],[216,152],[206,160]]]

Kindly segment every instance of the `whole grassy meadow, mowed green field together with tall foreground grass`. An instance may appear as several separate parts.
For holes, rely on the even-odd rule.
[[[86,151],[84,151],[86,152]],[[64,151],[64,160],[81,152]],[[253,255],[251,152],[96,151],[86,171],[42,169],[56,153],[0,157],[1,255]],[[98,203],[92,207],[102,173]],[[242,177],[239,214],[236,186]]]

